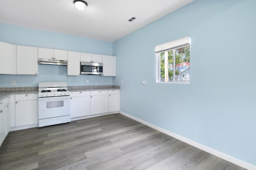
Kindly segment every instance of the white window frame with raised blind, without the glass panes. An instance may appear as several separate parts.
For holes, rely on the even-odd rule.
[[[176,39],[174,41],[170,41],[168,43],[164,43],[162,45],[156,45],[156,49],[155,49],[155,55],[156,55],[156,83],[171,83],[171,84],[190,84],[190,81],[191,81],[191,74],[189,72],[189,81],[175,81],[175,71],[173,72],[173,76],[172,76],[172,82],[161,82],[160,78],[160,74],[161,74],[161,62],[160,62],[160,56],[161,56],[161,53],[164,52],[164,51],[171,51],[171,50],[174,50],[173,52],[173,58],[174,58],[174,62],[173,62],[173,65],[174,65],[174,69],[175,66],[176,66],[176,63],[175,63],[175,50],[176,49],[179,49],[179,48],[182,48],[182,47],[188,47],[190,46],[190,37],[184,37],[184,38],[181,38],[181,39]],[[190,67],[190,66],[189,66]],[[190,70],[191,71],[191,70]]]

